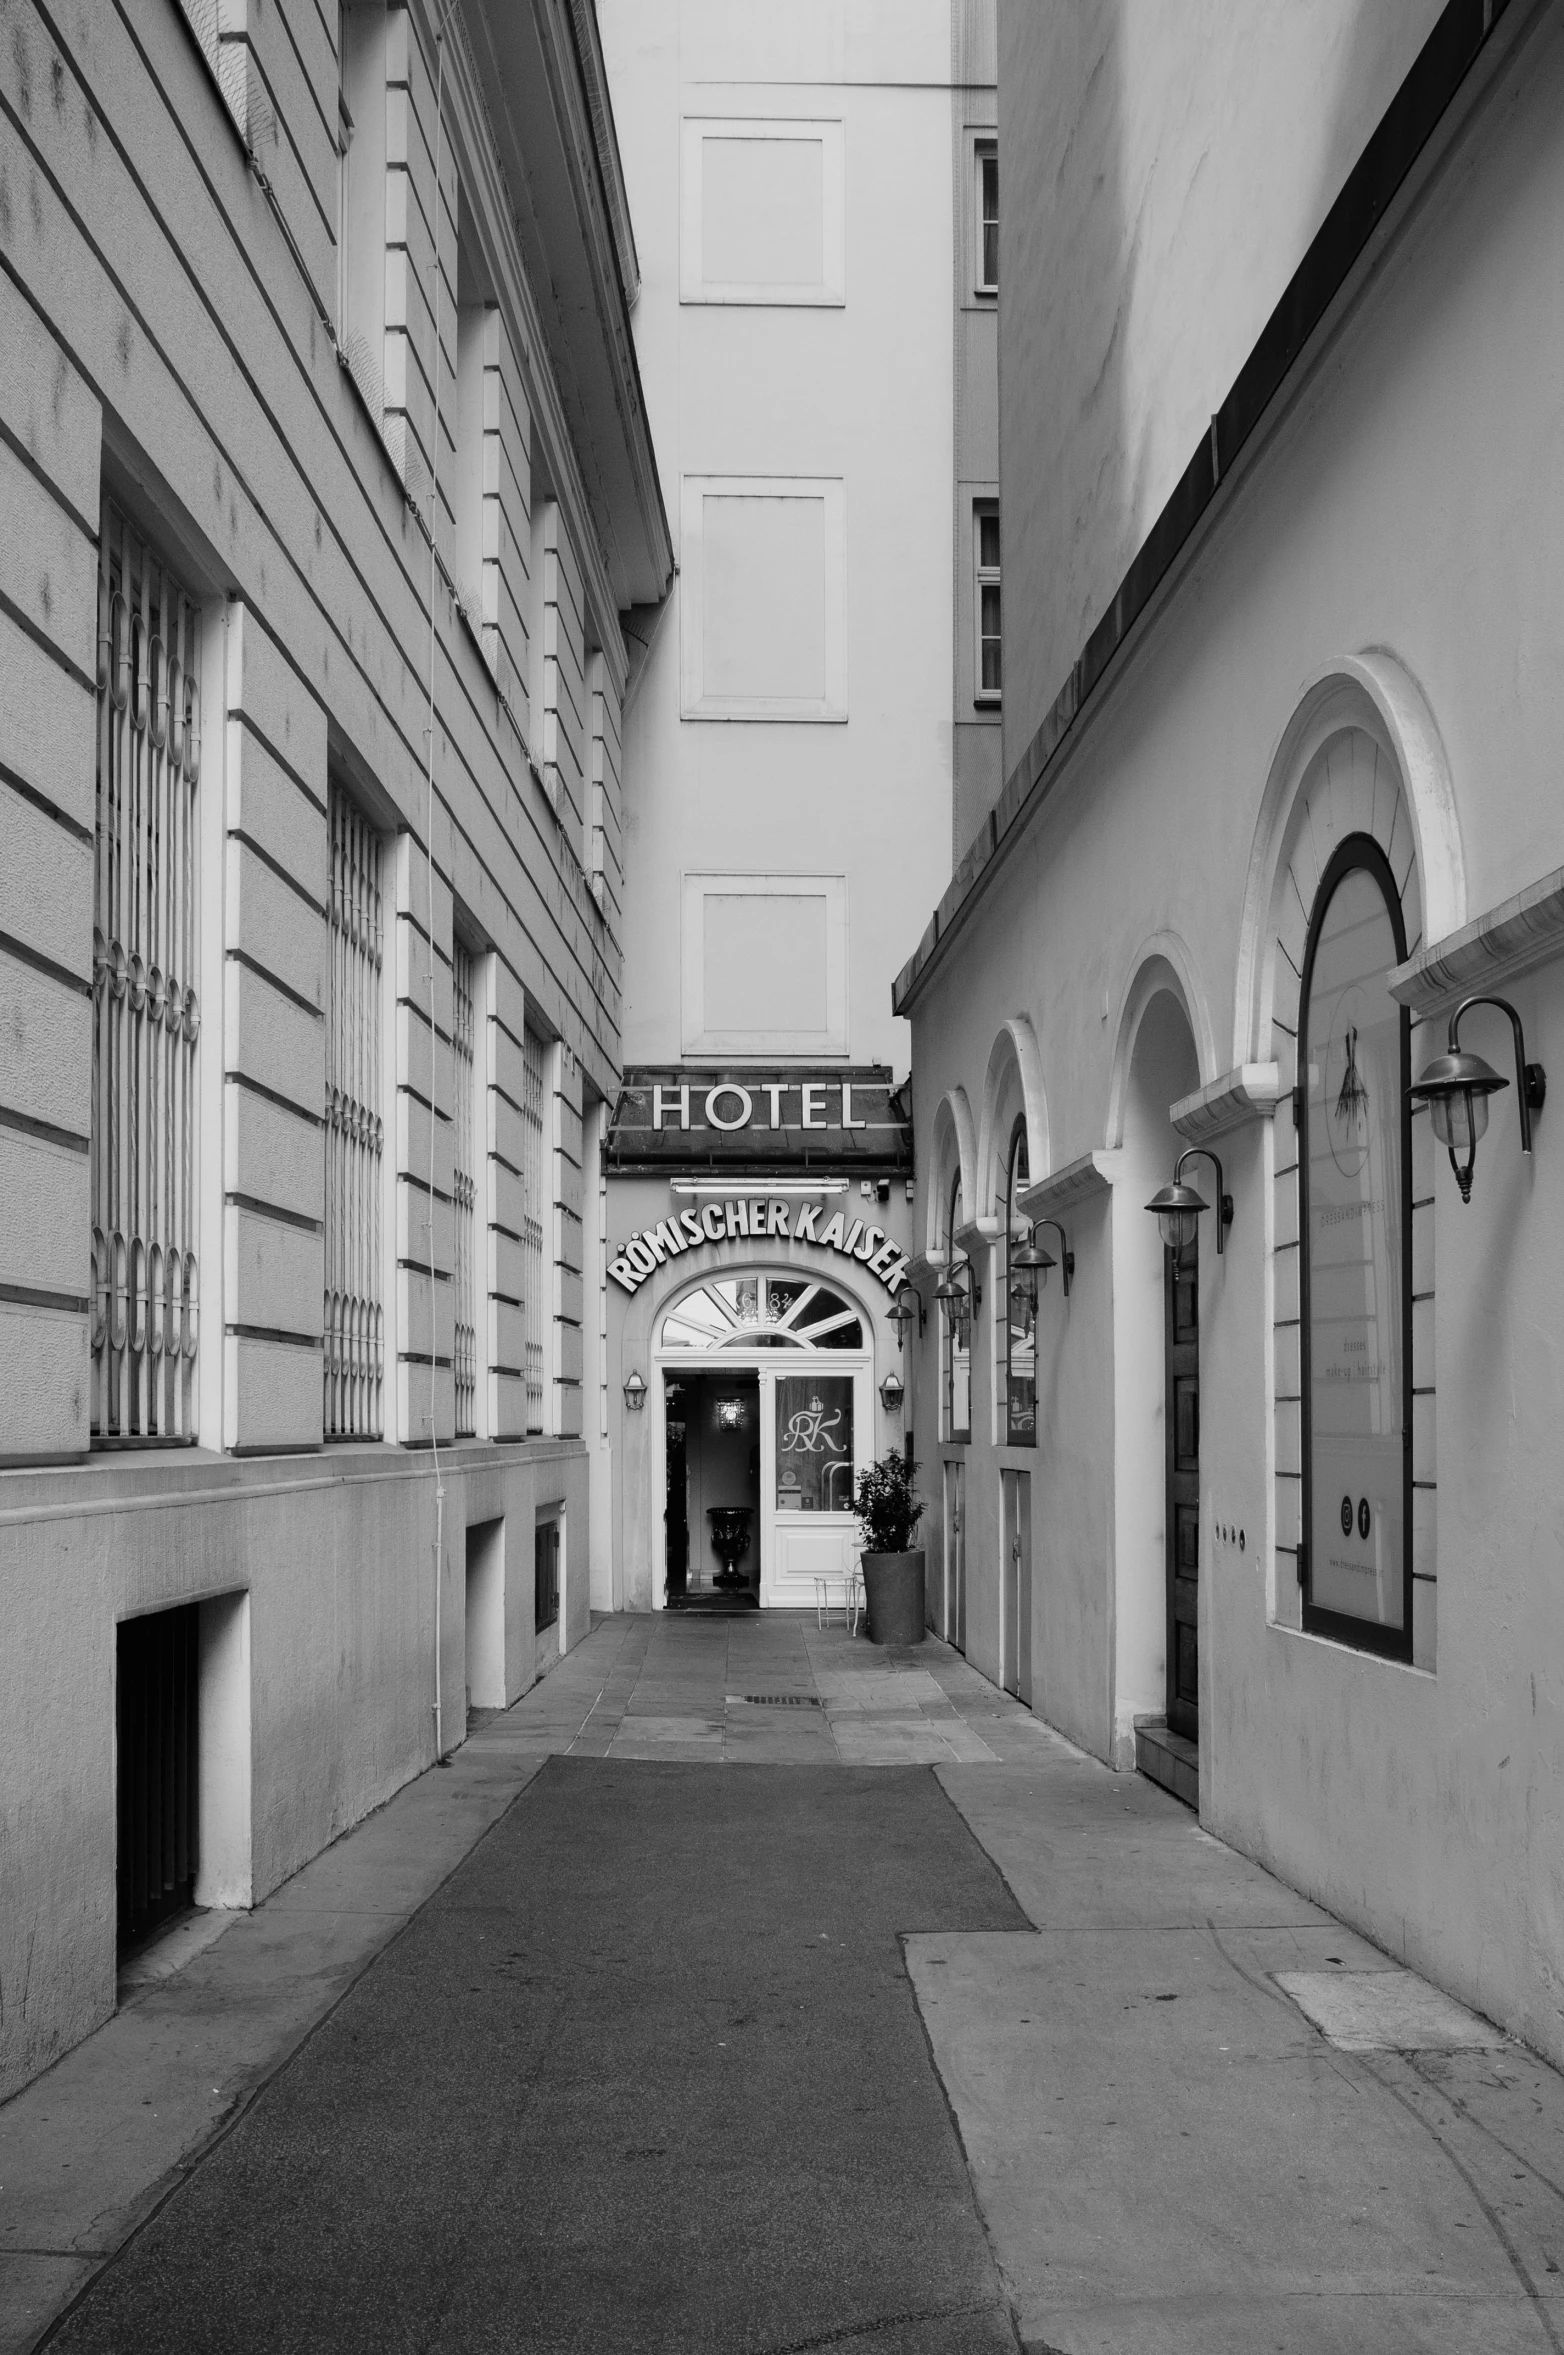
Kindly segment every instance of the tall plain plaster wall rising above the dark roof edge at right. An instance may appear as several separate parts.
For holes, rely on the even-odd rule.
[[[1437,14],[999,0],[1006,775]]]

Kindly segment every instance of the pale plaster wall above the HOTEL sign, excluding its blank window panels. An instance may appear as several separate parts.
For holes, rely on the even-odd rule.
[[[624,1060],[678,1060],[681,876],[848,878],[848,1050],[907,1067],[888,975],[949,874],[949,7],[605,0],[643,287],[636,351],[678,530],[688,476],[839,478],[846,725],[681,718],[688,577],[624,716]],[[681,304],[681,118],[841,122],[846,301]],[[688,572],[688,568],[685,568]]]

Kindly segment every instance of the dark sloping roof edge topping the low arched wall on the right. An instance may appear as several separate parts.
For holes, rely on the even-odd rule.
[[[1053,709],[1006,777],[919,947],[897,973],[893,1013],[914,1010],[949,944],[1058,789],[1079,751],[1083,723],[1098,716],[1107,690],[1124,676],[1131,652],[1225,513],[1232,490],[1263,455],[1472,108],[1545,5],[1548,0],[1449,0],[1439,14]]]

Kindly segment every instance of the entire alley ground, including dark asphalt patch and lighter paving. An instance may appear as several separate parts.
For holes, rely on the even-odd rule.
[[[212,1924],[0,2110],[5,2355],[1564,2350],[1562,2079],[933,1641],[605,1620]]]

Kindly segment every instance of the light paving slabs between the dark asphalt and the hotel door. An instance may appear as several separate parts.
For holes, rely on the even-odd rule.
[[[471,1740],[714,1766],[992,1766],[1058,1745],[935,1637],[890,1651],[791,1611],[603,1620]]]

